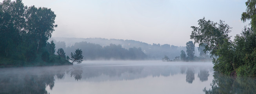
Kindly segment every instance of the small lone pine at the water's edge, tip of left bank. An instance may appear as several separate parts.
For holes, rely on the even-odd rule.
[[[82,50],[80,49],[76,49],[76,51],[74,52],[74,54],[71,52],[71,60],[72,60],[72,63],[76,62],[76,63],[82,63],[83,61],[83,52]]]

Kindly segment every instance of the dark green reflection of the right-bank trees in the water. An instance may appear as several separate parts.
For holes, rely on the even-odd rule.
[[[233,78],[214,73],[211,89],[203,89],[205,94],[255,94],[256,79],[247,77]]]

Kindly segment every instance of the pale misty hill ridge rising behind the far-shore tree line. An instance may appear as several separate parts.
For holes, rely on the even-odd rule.
[[[186,51],[186,47],[174,46],[170,44],[160,45],[159,43],[148,44],[145,42],[135,41],[135,40],[119,40],[119,39],[105,39],[105,38],[63,38],[63,37],[52,37],[49,39],[56,43],[56,49],[71,47],[78,42],[87,42],[101,45],[102,47],[109,46],[110,44],[121,45],[122,48],[141,48],[142,51],[147,55],[149,60],[161,60],[164,55],[168,56],[170,59],[174,59],[176,56],[180,56],[180,51]],[[185,43],[184,43],[185,44]],[[64,49],[65,51],[65,49]],[[71,52],[71,51],[65,51]],[[66,53],[69,55],[70,53]],[[197,47],[195,47],[195,56],[199,56]]]

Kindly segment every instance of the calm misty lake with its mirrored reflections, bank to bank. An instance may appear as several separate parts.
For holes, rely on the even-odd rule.
[[[211,62],[84,61],[0,69],[0,94],[253,94],[254,78],[215,73]]]

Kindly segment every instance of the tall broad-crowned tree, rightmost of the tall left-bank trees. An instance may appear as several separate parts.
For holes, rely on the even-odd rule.
[[[36,52],[46,46],[47,40],[54,31],[56,14],[51,9],[45,7],[29,7],[25,13],[27,20],[27,34],[37,45]]]

